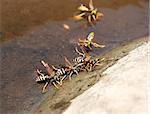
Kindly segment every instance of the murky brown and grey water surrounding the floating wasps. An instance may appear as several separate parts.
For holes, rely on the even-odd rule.
[[[64,56],[77,56],[79,38],[94,31],[95,41],[106,45],[102,54],[122,42],[148,35],[148,0],[93,0],[104,17],[82,28],[71,19],[80,3],[88,0],[3,0],[0,27],[1,114],[23,114],[43,95],[35,83],[40,60],[59,66]],[[63,24],[70,30],[63,28]]]

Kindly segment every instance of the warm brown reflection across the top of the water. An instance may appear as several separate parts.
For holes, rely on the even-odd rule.
[[[23,35],[35,26],[48,21],[66,20],[76,12],[80,3],[89,0],[3,0],[1,41]],[[148,0],[93,0],[96,7],[117,9],[131,4],[141,7]]]

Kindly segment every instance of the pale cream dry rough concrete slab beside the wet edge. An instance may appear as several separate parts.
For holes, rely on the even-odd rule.
[[[150,42],[108,68],[63,114],[149,114]]]

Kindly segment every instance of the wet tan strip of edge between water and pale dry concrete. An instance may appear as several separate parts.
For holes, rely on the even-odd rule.
[[[101,58],[105,58],[101,66],[96,67],[93,72],[81,72],[78,76],[74,76],[72,81],[66,80],[59,90],[51,89],[46,93],[48,94],[47,98],[43,98],[41,103],[34,106],[31,114],[60,114],[64,112],[72,99],[103,79],[102,73],[107,68],[126,56],[131,50],[148,41],[150,41],[149,36],[142,37],[122,43],[110,52],[101,55]]]

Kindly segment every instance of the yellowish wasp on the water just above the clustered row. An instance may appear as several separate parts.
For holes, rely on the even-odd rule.
[[[86,37],[86,39],[84,39],[84,40],[79,39],[78,45],[83,47],[86,51],[92,50],[93,46],[96,48],[104,48],[105,47],[105,45],[97,44],[97,43],[93,42],[93,39],[94,39],[94,32],[91,32]]]

